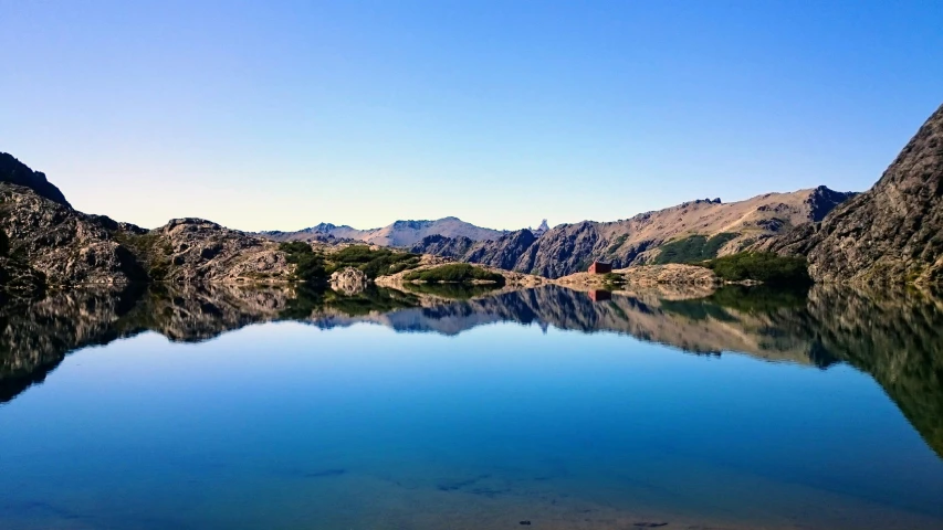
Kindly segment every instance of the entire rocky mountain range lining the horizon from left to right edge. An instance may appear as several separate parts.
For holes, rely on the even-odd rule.
[[[536,232],[536,233],[535,233]],[[538,236],[539,235],[539,236]],[[321,224],[248,234],[201,219],[146,230],[74,210],[45,174],[0,153],[0,286],[48,282],[289,279],[279,241],[345,240],[551,278],[725,254],[803,256],[816,282],[943,283],[943,106],[865,193],[825,187],[685,202],[630,219],[502,232],[457,218],[357,231]]]

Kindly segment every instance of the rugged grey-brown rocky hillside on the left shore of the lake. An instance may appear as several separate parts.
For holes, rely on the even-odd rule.
[[[42,176],[15,163],[18,176]],[[43,278],[52,286],[287,280],[295,267],[276,243],[209,221],[179,219],[145,230],[9,182],[0,182],[0,232],[8,257],[0,264],[3,274],[23,282]]]

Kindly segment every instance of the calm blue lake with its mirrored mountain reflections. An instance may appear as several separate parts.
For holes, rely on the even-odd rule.
[[[481,296],[8,301],[0,528],[943,528],[941,300]]]

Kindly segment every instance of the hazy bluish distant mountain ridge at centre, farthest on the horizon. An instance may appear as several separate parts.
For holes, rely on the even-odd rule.
[[[275,241],[312,241],[324,239],[356,240],[380,246],[411,246],[428,236],[467,237],[472,241],[496,240],[507,231],[484,229],[459,218],[431,221],[396,221],[379,229],[357,230],[347,225],[321,223],[296,232],[270,231],[259,235]]]

